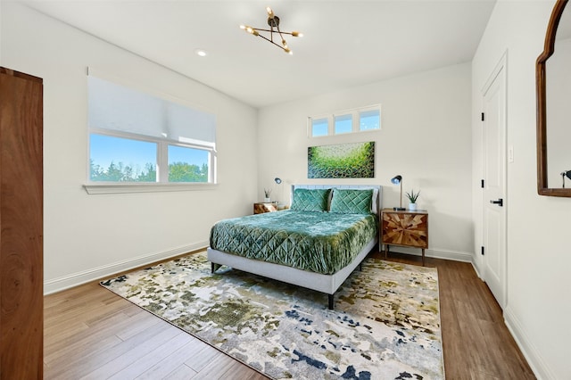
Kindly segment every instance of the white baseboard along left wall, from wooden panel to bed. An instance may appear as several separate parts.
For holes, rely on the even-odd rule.
[[[68,276],[54,278],[44,282],[44,295],[61,292],[62,290],[69,289],[73,286],[85,284],[87,282],[95,281],[103,277],[109,277],[116,273],[120,273],[132,268],[141,267],[152,262],[170,259],[186,252],[201,250],[207,246],[208,242],[199,242],[173,248],[169,251],[154,252],[151,254],[136,257],[134,259],[118,261],[110,265],[104,265],[98,268],[92,268],[82,272],[73,273]]]

